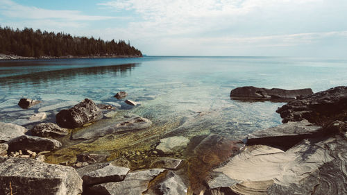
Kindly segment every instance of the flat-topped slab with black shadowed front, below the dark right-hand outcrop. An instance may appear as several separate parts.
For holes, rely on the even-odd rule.
[[[322,130],[321,126],[311,124],[307,120],[289,122],[279,126],[258,130],[248,134],[247,144],[264,144],[268,146],[283,146],[289,149],[301,140],[312,137]]]

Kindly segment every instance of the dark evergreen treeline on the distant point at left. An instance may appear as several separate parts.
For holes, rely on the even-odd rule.
[[[142,56],[141,51],[124,40],[104,41],[94,37],[72,37],[65,33],[33,31],[32,28],[13,30],[0,26],[0,53],[40,56]]]

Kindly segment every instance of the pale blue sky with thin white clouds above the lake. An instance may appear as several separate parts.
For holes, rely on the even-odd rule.
[[[347,57],[347,0],[0,0],[0,26],[130,40],[149,56]]]

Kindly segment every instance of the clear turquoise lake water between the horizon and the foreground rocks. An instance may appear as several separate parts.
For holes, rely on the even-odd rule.
[[[40,106],[85,98],[117,102],[120,90],[142,104],[128,110],[155,126],[176,123],[164,135],[217,133],[239,138],[280,124],[275,112],[283,103],[231,100],[235,87],[311,87],[314,92],[347,85],[347,60],[256,57],[144,57],[0,61],[0,121],[31,126],[26,119]],[[28,110],[20,98],[42,105]],[[48,110],[55,121],[60,109]],[[163,136],[164,136],[163,135]]]

